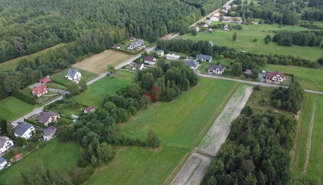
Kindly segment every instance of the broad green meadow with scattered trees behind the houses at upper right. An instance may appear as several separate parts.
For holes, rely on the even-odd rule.
[[[219,22],[214,23],[218,24]],[[230,23],[233,24],[233,23]],[[214,44],[220,46],[233,47],[237,51],[246,51],[258,54],[290,54],[293,56],[300,56],[310,60],[316,60],[322,55],[323,50],[320,46],[317,47],[302,47],[293,45],[288,46],[278,46],[276,42],[269,42],[265,44],[264,38],[266,35],[273,37],[274,32],[269,32],[269,30],[308,30],[307,28],[300,26],[283,26],[278,28],[278,24],[260,24],[256,25],[242,25],[242,30],[224,31],[222,29],[214,29],[214,33],[203,33],[198,32],[196,36],[192,36],[191,33],[185,34],[183,37],[187,39],[197,40],[211,40]],[[265,30],[265,32],[263,32]],[[237,33],[237,40],[232,41],[233,33]],[[253,42],[257,38],[258,42]]]

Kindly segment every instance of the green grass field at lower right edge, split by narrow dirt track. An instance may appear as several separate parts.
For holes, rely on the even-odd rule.
[[[306,174],[302,175],[306,160],[308,133],[313,112],[314,99],[316,100],[315,118],[311,137],[311,150]],[[314,180],[318,184],[323,183],[323,95],[306,93],[303,107],[298,117],[298,132],[296,136],[295,154],[292,162],[294,179]]]

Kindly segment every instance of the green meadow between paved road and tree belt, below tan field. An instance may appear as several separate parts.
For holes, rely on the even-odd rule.
[[[84,92],[71,97],[70,101],[76,101],[82,105],[93,105],[101,107],[101,101],[105,94],[113,94],[121,87],[125,87],[133,80],[133,72],[119,70],[114,74],[114,78],[104,77],[88,86]]]

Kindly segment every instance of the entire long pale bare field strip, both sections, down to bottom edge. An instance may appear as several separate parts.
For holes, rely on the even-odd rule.
[[[207,167],[210,165],[211,156],[213,157],[221,144],[225,142],[230,132],[231,122],[240,115],[251,92],[251,86],[240,84],[197,147],[197,152],[192,153],[186,164],[183,165],[181,171],[178,172],[176,178],[172,181],[172,185],[201,183]]]

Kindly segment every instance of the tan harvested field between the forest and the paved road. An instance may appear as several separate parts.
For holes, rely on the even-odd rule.
[[[133,56],[131,55],[118,51],[106,50],[74,64],[73,67],[88,70],[96,74],[102,74],[107,71],[109,64],[113,64],[117,67],[132,57]]]

